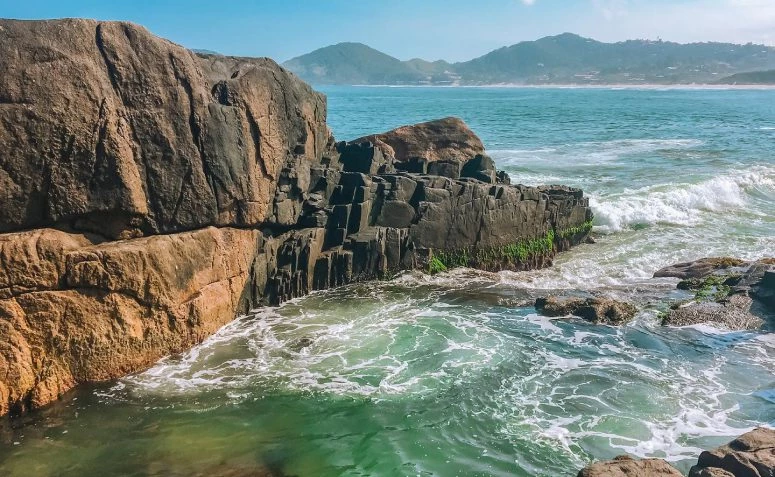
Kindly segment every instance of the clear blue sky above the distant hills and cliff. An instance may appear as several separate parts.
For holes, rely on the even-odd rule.
[[[564,32],[775,46],[775,0],[0,0],[0,17],[127,20],[189,48],[278,61],[343,41],[465,61]]]

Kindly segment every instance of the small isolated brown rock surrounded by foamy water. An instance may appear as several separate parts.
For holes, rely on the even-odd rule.
[[[635,317],[638,309],[630,303],[612,298],[550,296],[538,298],[536,310],[546,316],[574,315],[593,323],[621,325]]]

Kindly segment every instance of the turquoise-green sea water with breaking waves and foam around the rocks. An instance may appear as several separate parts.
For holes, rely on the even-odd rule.
[[[662,328],[682,292],[651,278],[775,255],[775,91],[324,91],[340,139],[462,117],[515,183],[583,187],[597,243],[547,270],[409,273],[259,310],[0,428],[0,474],[571,476],[622,453],[687,471],[775,425],[775,335]],[[555,291],[642,311],[618,328],[534,314]]]

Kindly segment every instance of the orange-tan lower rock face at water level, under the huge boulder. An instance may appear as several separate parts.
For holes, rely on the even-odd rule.
[[[142,369],[247,311],[260,235],[209,227],[99,245],[51,229],[0,236],[0,270],[13,272],[0,299],[0,414]]]

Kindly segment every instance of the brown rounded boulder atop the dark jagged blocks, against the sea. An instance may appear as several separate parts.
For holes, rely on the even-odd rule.
[[[484,154],[481,139],[461,119],[453,117],[402,126],[352,142],[373,143],[383,154],[400,162],[422,158],[427,162],[456,160],[464,163]]]

